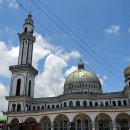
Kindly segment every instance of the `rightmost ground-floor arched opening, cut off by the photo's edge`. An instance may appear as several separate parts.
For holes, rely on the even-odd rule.
[[[130,116],[126,113],[118,114],[115,121],[119,125],[120,130],[128,130],[130,127]]]

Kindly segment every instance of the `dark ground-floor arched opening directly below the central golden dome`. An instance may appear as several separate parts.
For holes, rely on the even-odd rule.
[[[86,114],[78,114],[74,117],[75,130],[91,130],[91,119]]]

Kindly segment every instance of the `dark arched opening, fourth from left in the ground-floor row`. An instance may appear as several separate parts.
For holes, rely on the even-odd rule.
[[[67,130],[69,119],[66,115],[58,115],[54,119],[54,130]]]

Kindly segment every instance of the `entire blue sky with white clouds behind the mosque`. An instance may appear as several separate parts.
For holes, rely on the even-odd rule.
[[[40,1],[84,42],[65,28]],[[33,64],[39,71],[36,86],[41,86],[36,90],[37,93],[41,89],[47,89],[49,94],[43,92],[41,95],[61,94],[65,77],[75,70],[80,57],[86,69],[100,75],[104,92],[121,91],[125,85],[124,68],[130,63],[129,5],[129,0],[0,0],[1,100],[4,100],[3,97],[9,90],[11,74],[8,66],[17,64],[19,46],[17,33],[22,32],[24,19],[30,10],[37,36],[33,57]],[[93,56],[87,46],[94,51]],[[50,62],[54,62],[53,66],[49,66]],[[55,80],[54,74],[61,79]],[[41,81],[46,80],[47,76],[50,81],[45,83],[48,85],[46,88]],[[53,86],[57,87],[54,89]],[[58,87],[60,91],[56,93]]]

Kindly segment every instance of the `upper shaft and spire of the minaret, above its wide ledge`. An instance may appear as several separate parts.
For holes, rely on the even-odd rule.
[[[24,21],[23,32],[19,34],[20,49],[18,65],[32,64],[33,43],[35,42],[35,37],[33,36],[33,29],[33,19],[32,14],[30,12]]]

